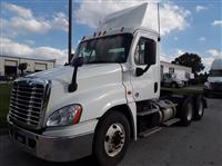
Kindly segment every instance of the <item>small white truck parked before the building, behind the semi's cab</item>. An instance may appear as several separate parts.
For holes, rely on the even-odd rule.
[[[175,74],[163,74],[161,85],[163,87],[171,87],[171,88],[182,88],[184,87],[184,81],[176,78]]]

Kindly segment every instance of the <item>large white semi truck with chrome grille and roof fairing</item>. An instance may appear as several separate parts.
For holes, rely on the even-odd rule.
[[[201,94],[161,91],[160,38],[142,26],[147,9],[143,3],[108,16],[83,37],[70,65],[14,81],[8,114],[14,144],[46,160],[93,154],[113,166],[131,140],[202,118]]]

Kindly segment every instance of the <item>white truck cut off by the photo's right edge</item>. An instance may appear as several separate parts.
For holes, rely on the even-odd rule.
[[[213,60],[203,91],[206,97],[222,96],[222,58]]]

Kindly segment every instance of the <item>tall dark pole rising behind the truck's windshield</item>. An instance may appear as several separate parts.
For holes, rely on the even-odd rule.
[[[72,0],[69,0],[69,37],[68,37],[68,62],[71,62],[72,53]]]

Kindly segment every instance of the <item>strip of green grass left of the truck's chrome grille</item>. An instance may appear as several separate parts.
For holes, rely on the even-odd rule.
[[[0,128],[6,127],[7,114],[9,111],[11,85],[0,85]]]

